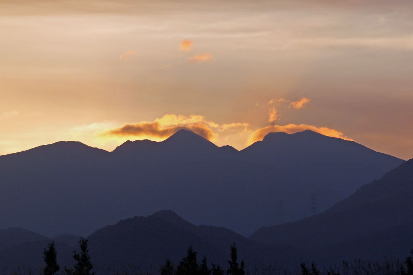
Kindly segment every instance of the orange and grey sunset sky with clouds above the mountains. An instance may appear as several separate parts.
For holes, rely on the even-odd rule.
[[[413,1],[1,1],[0,155],[306,129],[413,158]]]

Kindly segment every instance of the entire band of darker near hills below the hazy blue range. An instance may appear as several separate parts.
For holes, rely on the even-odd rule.
[[[284,268],[297,273],[301,261],[334,267],[359,258],[404,259],[413,248],[412,201],[413,159],[323,213],[260,228],[249,238],[227,228],[196,226],[164,210],[120,220],[95,230],[87,239],[95,271],[102,274],[158,273],[166,258],[178,263],[191,244],[199,260],[206,255],[209,265],[225,268],[233,242],[250,273],[283,273]],[[22,228],[0,230],[0,269],[12,273],[18,266],[31,266],[36,270],[43,265],[43,248],[51,241],[58,263],[71,266],[79,239],[76,235],[48,238]]]

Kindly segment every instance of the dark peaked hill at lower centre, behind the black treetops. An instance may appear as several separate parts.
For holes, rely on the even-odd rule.
[[[166,258],[178,263],[191,244],[198,252],[199,261],[207,255],[209,264],[212,261],[223,266],[227,266],[233,242],[237,244],[239,257],[247,263],[298,263],[301,253],[254,242],[226,228],[195,226],[173,211],[121,220],[95,231],[88,239],[94,261],[113,267],[130,263],[159,266]]]

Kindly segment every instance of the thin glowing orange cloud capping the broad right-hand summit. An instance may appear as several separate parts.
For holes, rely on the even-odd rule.
[[[339,132],[335,129],[330,129],[328,127],[318,128],[316,126],[306,125],[306,124],[299,124],[299,125],[287,124],[287,125],[270,125],[270,126],[266,126],[266,127],[255,130],[248,136],[246,145],[249,146],[256,141],[262,140],[268,133],[285,132],[288,134],[293,134],[293,133],[301,132],[304,130],[312,130],[322,135],[327,135],[329,137],[339,137],[339,138],[342,138],[343,140],[352,140],[351,138],[343,136],[342,132]]]

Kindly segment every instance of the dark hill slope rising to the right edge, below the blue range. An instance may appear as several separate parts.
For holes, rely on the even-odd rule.
[[[404,258],[413,247],[413,159],[363,185],[325,213],[273,227],[250,237],[312,249],[313,260]]]

